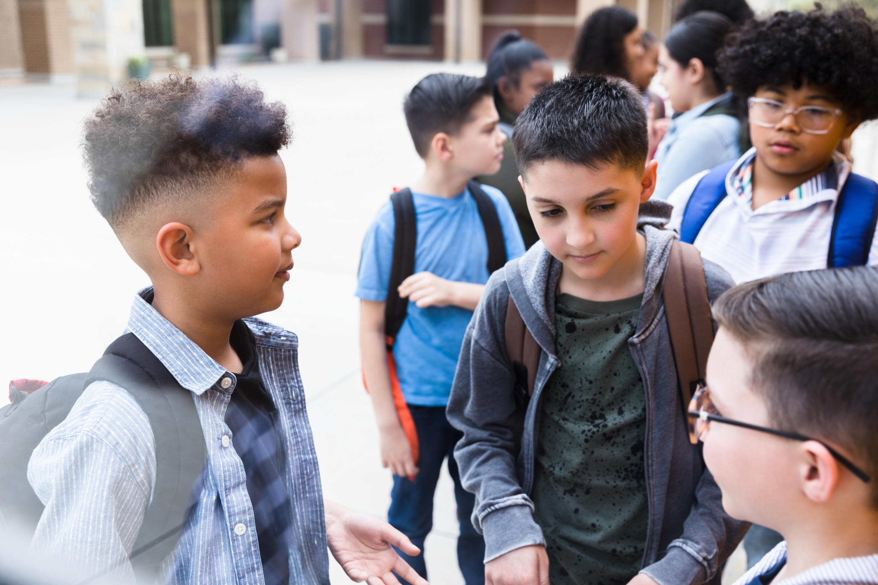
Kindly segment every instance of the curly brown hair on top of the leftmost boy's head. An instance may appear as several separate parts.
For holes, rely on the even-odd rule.
[[[113,229],[160,200],[203,188],[244,159],[286,146],[283,103],[241,78],[174,73],[119,85],[85,120],[91,201]]]

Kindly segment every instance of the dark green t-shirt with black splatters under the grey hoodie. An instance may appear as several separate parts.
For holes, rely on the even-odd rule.
[[[624,585],[640,570],[646,399],[628,339],[642,300],[558,295],[561,366],[541,397],[532,491],[552,585]]]

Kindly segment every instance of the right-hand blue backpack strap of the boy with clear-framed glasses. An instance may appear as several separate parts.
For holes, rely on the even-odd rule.
[[[835,204],[826,266],[865,266],[872,248],[876,221],[878,183],[851,173]]]

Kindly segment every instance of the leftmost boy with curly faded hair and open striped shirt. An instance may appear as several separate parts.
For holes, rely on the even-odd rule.
[[[427,585],[392,548],[419,552],[402,533],[324,502],[298,340],[253,317],[284,300],[301,241],[284,217],[278,151],[290,140],[284,104],[235,77],[131,82],[86,120],[92,201],[152,282],[107,353],[141,372],[130,380],[148,376],[155,394],[174,389],[183,402],[146,408],[140,382],[91,375],[31,455],[27,478],[45,505],[34,546],[112,582],[193,585],[327,584],[328,546],[353,580],[390,585],[393,570]],[[154,428],[155,416],[179,424]],[[192,494],[190,511],[135,546],[155,506],[176,498],[156,479],[174,459],[159,446],[183,429],[206,451],[197,489],[177,490]]]

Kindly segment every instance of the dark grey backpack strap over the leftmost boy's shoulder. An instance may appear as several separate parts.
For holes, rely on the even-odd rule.
[[[207,448],[198,410],[191,391],[133,333],[107,347],[85,386],[97,380],[126,389],[153,430],[155,487],[130,558],[138,581],[155,580],[189,518],[193,488],[205,469]]]

